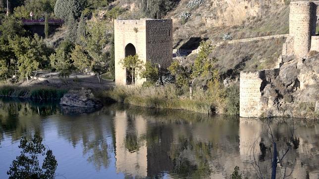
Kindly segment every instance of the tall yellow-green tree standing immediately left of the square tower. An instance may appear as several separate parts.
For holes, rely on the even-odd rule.
[[[92,71],[97,73],[100,84],[101,74],[109,68],[109,55],[107,55],[105,47],[109,43],[110,28],[106,23],[92,22],[87,25],[86,36],[82,37],[84,48],[92,58]]]

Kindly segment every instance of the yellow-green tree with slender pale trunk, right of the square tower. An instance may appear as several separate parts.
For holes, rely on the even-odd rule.
[[[181,56],[177,61],[174,61],[168,70],[172,75],[175,75],[176,83],[183,85],[185,82],[189,87],[189,97],[193,98],[193,85],[194,81],[199,77],[207,76],[209,73],[214,72],[213,64],[217,61],[216,58],[209,58],[212,51],[211,41],[202,41],[200,43],[200,51],[194,63],[191,66],[184,64],[185,59]]]

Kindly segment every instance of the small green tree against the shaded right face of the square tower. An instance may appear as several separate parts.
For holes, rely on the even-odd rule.
[[[147,61],[144,65],[144,69],[140,73],[142,78],[146,78],[148,84],[154,85],[159,80],[159,69],[156,64],[152,64],[151,61]]]

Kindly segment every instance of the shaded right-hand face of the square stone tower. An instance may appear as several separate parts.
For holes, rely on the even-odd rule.
[[[146,21],[147,60],[167,68],[173,54],[173,26],[171,19],[151,19]]]

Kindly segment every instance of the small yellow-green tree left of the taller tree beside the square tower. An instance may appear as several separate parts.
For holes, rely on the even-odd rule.
[[[91,61],[89,56],[85,53],[85,50],[80,45],[75,45],[75,48],[71,52],[71,59],[73,65],[80,72],[91,69]]]

